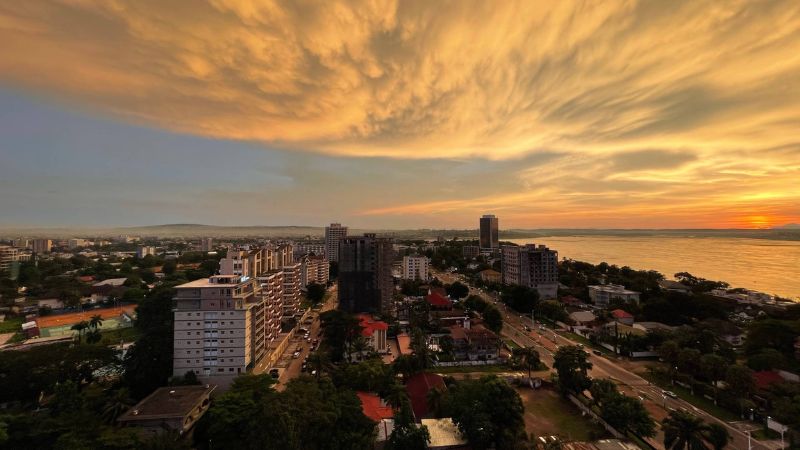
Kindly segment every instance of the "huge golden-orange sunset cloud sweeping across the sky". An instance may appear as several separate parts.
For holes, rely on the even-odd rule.
[[[296,152],[479,161],[499,180],[475,192],[459,184],[470,173],[449,174],[449,190],[365,218],[798,214],[795,0],[26,0],[0,5],[0,42],[4,83],[122,120]]]

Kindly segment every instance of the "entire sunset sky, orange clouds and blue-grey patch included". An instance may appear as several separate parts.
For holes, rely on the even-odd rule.
[[[800,222],[800,2],[0,4],[0,226]]]

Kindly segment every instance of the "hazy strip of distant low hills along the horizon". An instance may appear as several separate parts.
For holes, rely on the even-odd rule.
[[[196,224],[152,225],[139,227],[0,227],[0,238],[16,237],[112,237],[120,235],[152,236],[159,238],[322,238],[324,227],[313,226],[217,226]],[[477,229],[358,229],[351,234],[366,232],[393,236],[397,239],[477,239]],[[542,228],[500,230],[501,239],[534,239],[548,236],[669,236],[669,237],[717,237],[750,238],[800,241],[800,229],[588,229],[588,228]]]

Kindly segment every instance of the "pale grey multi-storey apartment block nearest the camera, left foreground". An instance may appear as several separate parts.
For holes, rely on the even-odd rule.
[[[175,289],[174,376],[229,384],[258,362],[266,311],[255,279],[215,275]]]

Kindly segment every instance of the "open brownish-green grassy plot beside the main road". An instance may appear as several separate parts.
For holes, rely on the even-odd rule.
[[[607,435],[581,415],[575,405],[553,389],[518,388],[525,406],[525,431],[535,436],[560,436],[571,441],[593,441]]]

